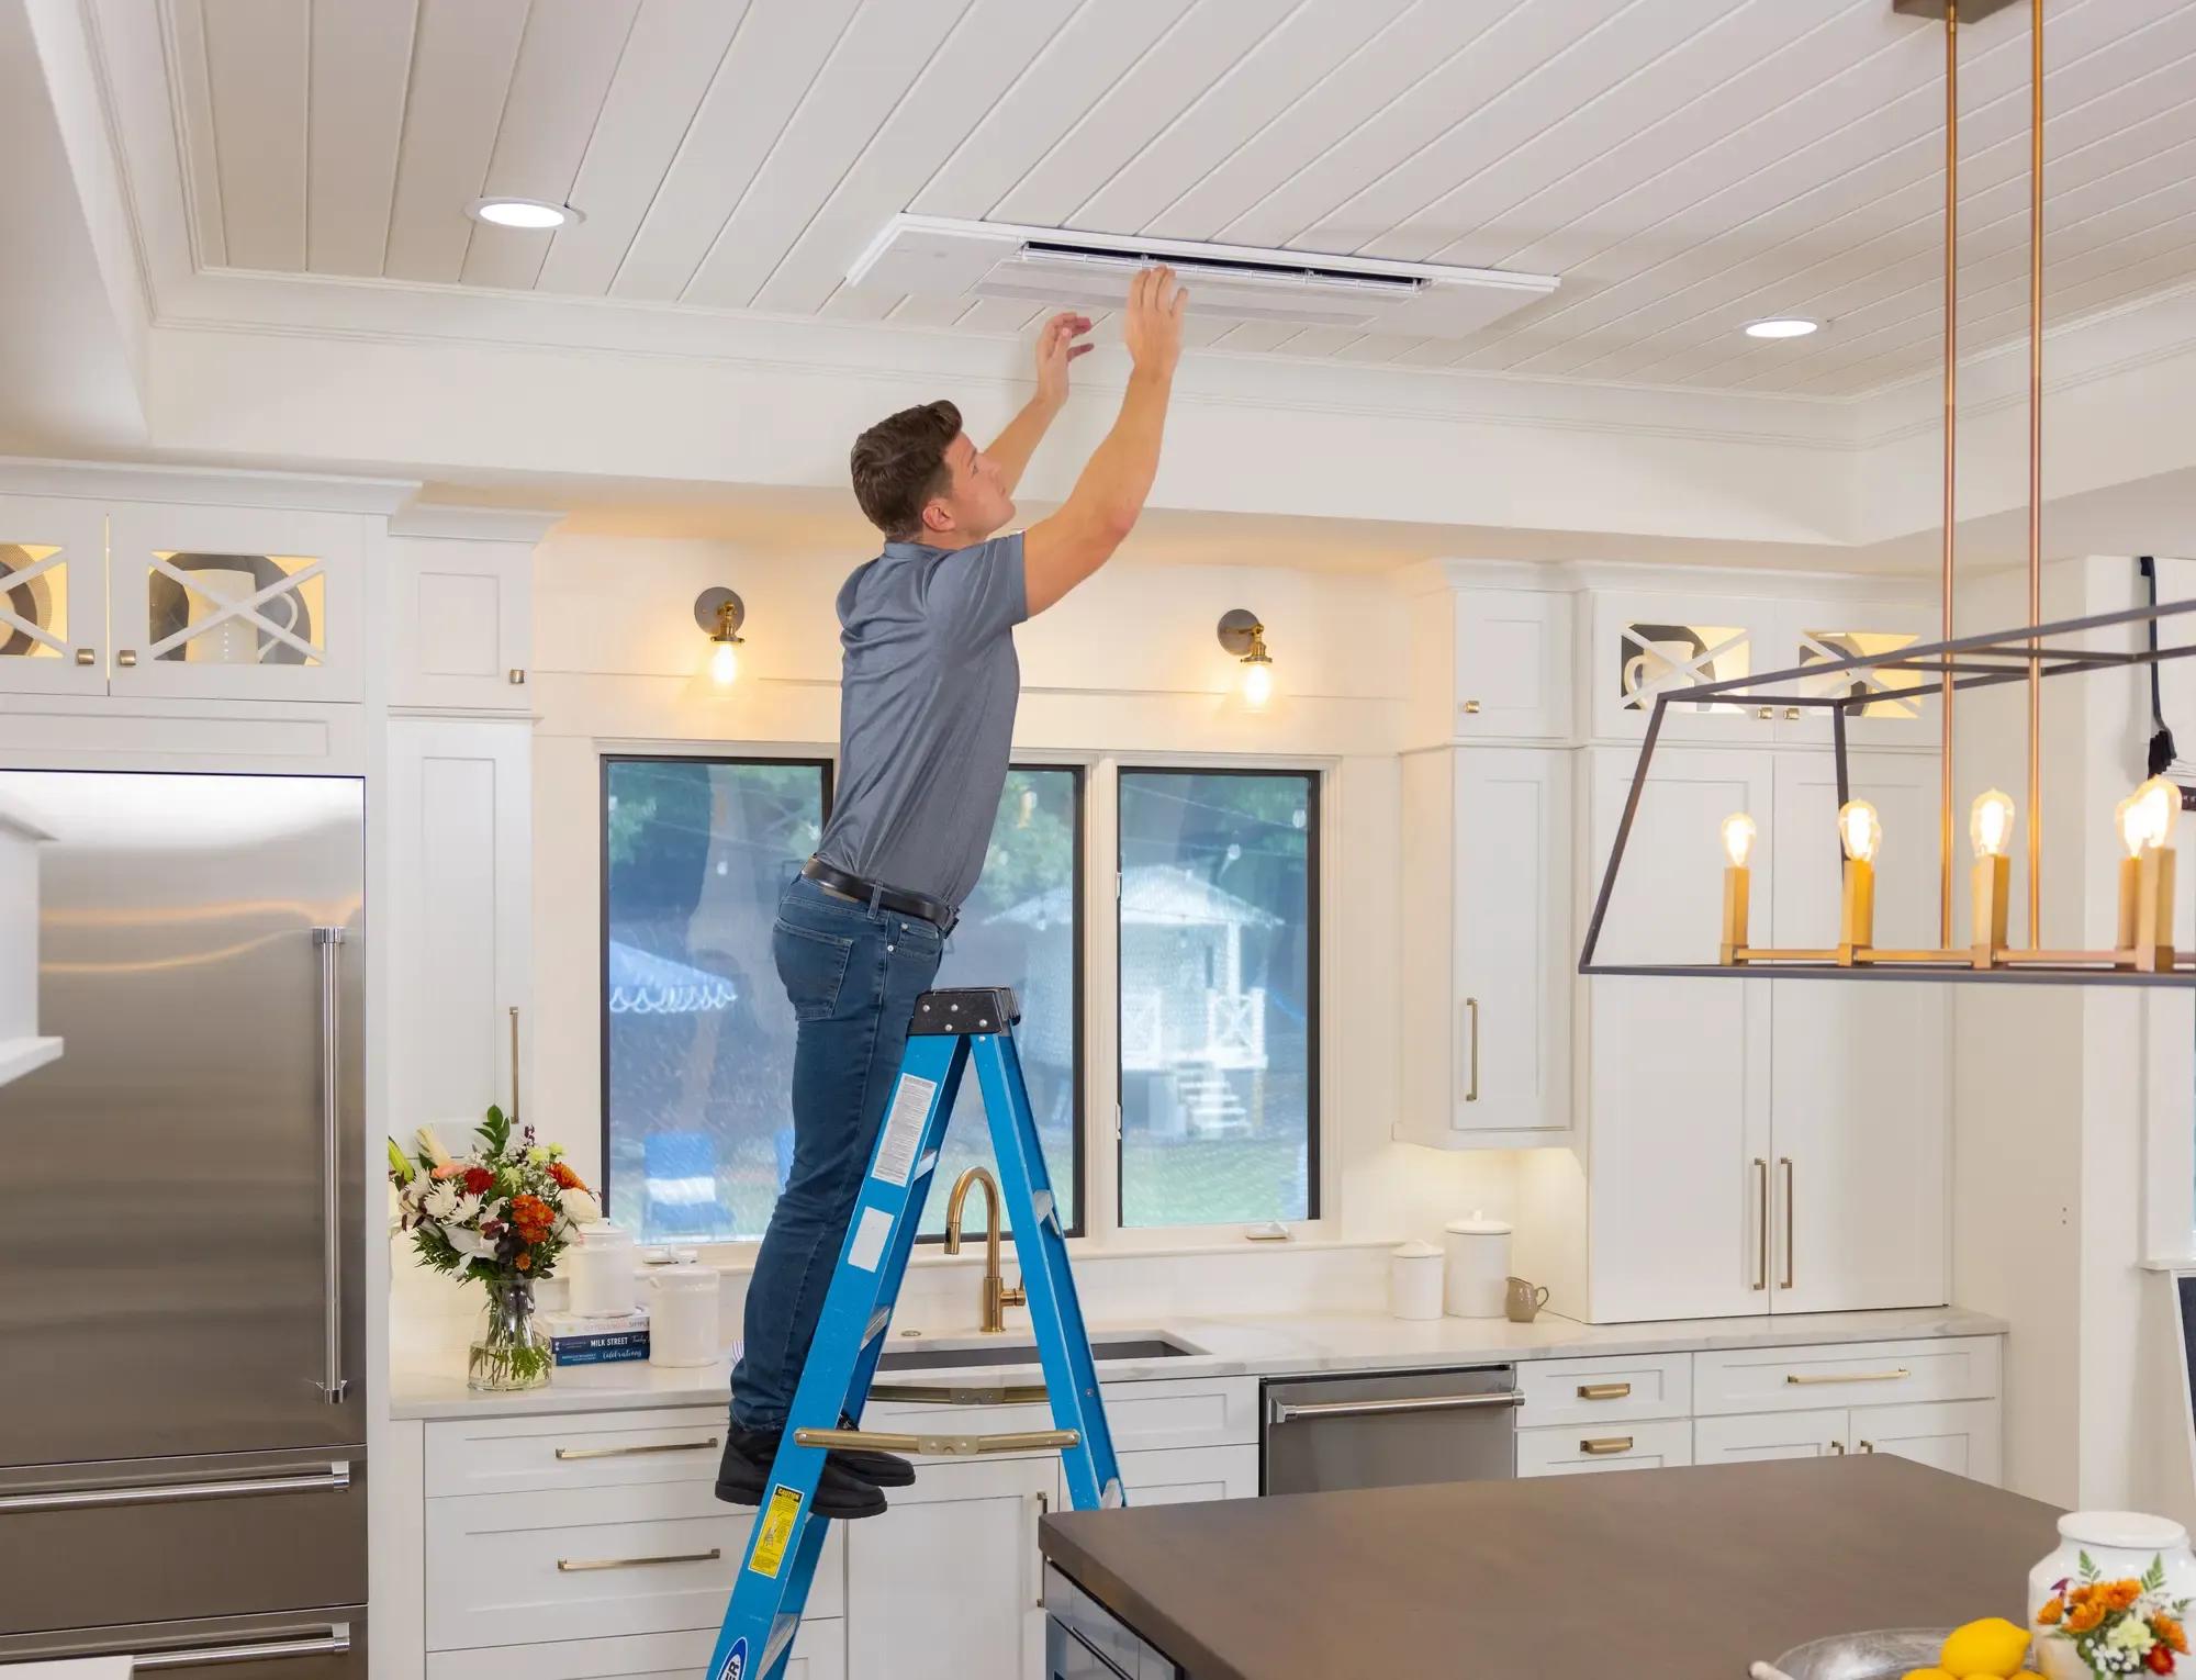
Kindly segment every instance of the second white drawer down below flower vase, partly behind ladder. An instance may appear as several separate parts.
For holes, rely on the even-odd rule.
[[[551,1640],[714,1629],[753,1522],[709,1480],[435,1500],[426,1645],[505,1645],[514,1627]],[[830,1526],[808,1605],[845,1614],[843,1524]]]

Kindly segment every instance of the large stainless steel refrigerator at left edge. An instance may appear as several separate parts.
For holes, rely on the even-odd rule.
[[[40,1032],[0,1085],[0,1662],[362,1680],[365,806],[0,771]]]

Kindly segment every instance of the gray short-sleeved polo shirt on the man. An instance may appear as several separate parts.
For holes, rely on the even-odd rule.
[[[839,591],[839,784],[817,856],[960,903],[975,892],[1021,698],[1021,531],[887,542]]]

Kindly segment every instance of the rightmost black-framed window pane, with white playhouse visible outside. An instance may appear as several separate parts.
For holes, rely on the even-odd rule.
[[[1318,1217],[1318,777],[1120,773],[1120,1223]]]

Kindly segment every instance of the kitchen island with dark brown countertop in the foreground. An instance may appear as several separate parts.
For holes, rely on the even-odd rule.
[[[1880,1454],[1069,1511],[1039,1526],[1047,1676],[1741,1680],[1827,1634],[2025,1621],[2055,1517]]]

